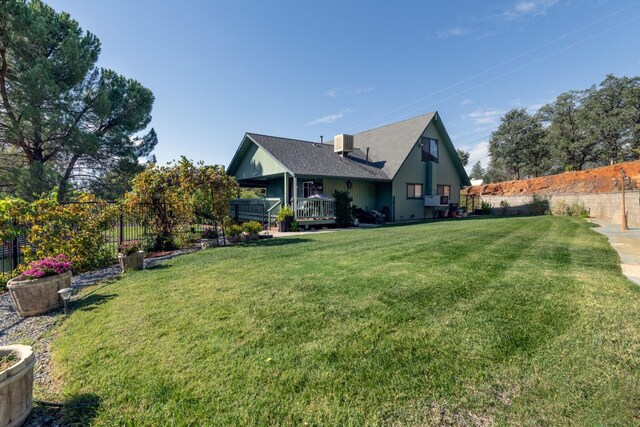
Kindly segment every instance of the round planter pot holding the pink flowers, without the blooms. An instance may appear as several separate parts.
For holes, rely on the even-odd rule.
[[[71,271],[33,280],[9,280],[7,289],[22,317],[46,313],[62,306],[60,289],[71,287]]]

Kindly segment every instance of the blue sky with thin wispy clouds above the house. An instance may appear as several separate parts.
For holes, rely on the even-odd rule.
[[[153,91],[162,163],[228,165],[245,132],[315,141],[437,110],[486,166],[508,109],[640,74],[638,1],[47,3]]]

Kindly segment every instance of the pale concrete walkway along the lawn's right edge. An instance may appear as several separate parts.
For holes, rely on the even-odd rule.
[[[594,230],[607,236],[611,246],[620,254],[622,273],[640,285],[640,228],[622,231],[620,224],[612,224],[606,219],[591,218],[590,221],[600,226]]]

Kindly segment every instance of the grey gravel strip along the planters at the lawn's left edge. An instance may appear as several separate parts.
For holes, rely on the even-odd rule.
[[[198,248],[183,249],[173,251],[166,256],[145,259],[144,266],[151,267],[158,262],[197,250]],[[120,267],[118,265],[78,274],[71,278],[71,287],[77,292],[85,286],[116,277],[119,274]],[[53,337],[47,334],[47,332],[54,327],[63,313],[64,311],[60,309],[40,316],[22,318],[18,316],[13,308],[9,293],[4,292],[0,294],[0,345],[22,343],[33,346],[37,358],[34,370],[34,381],[41,391],[41,394],[44,395],[55,396],[57,394],[57,390],[50,377],[51,355],[49,353],[49,347]],[[58,413],[59,411],[56,409],[45,409],[34,406],[34,411],[25,426],[58,425]]]

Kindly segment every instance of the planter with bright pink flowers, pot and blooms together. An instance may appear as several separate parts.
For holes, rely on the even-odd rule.
[[[71,260],[63,254],[33,261],[7,289],[22,317],[46,313],[62,305],[60,289],[71,287]]]

